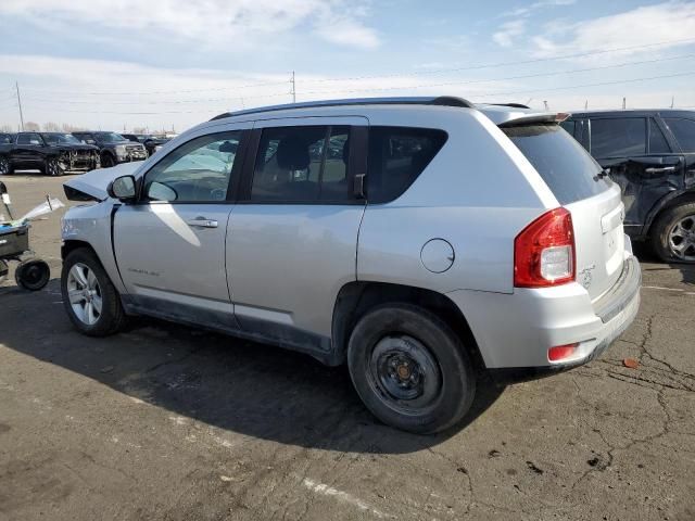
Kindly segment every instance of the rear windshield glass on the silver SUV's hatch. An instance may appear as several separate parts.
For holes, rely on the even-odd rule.
[[[610,187],[589,153],[559,125],[523,125],[503,128],[541,175],[560,204],[596,195]]]

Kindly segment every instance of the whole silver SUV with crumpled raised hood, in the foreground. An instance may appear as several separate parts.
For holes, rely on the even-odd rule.
[[[482,371],[584,364],[633,320],[620,190],[565,114],[459,98],[223,114],[143,163],[65,183],[65,309],[85,334],[148,315],[348,364],[418,433]]]

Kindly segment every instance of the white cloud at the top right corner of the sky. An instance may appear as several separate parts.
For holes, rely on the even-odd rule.
[[[621,49],[649,43],[660,43],[693,38],[695,34],[695,3],[666,2],[636,8],[632,11],[603,16],[595,20],[564,23],[563,36],[557,40],[548,36],[533,38],[535,55],[552,58],[561,54],[577,54],[605,49]],[[674,42],[667,49],[691,42]],[[610,53],[610,59],[624,58],[636,52],[654,52],[654,49]],[[602,61],[606,56],[602,55]]]

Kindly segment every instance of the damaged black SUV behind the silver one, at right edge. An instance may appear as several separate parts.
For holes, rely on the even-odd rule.
[[[582,112],[561,125],[620,185],[626,231],[665,262],[695,263],[695,112]]]

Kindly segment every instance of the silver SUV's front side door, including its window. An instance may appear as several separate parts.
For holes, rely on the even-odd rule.
[[[140,313],[235,329],[225,241],[241,130],[191,139],[140,179],[114,218],[126,302]]]

